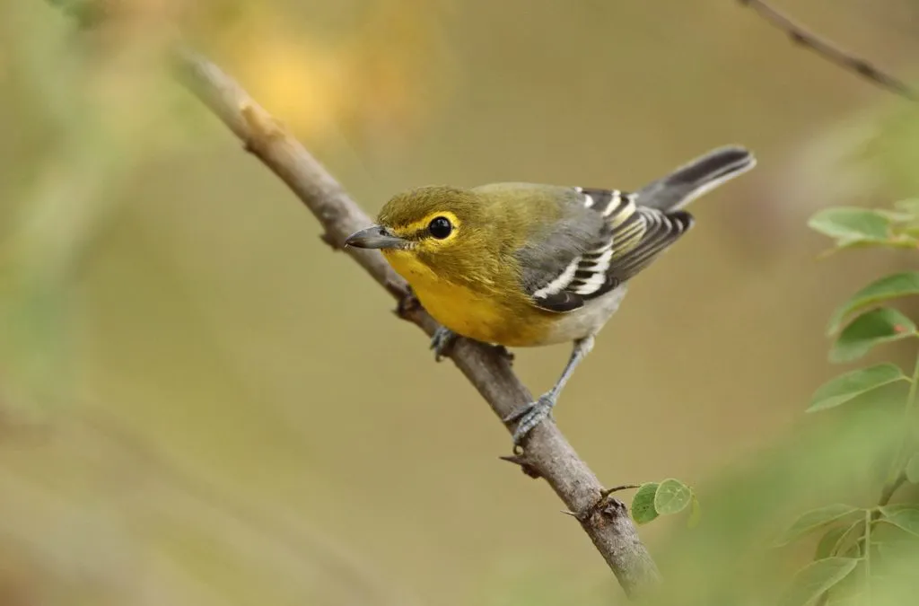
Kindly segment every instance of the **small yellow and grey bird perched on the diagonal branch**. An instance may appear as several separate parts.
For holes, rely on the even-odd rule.
[[[515,450],[550,417],[630,280],[694,225],[692,200],[756,165],[726,145],[641,189],[538,183],[425,186],[388,200],[346,246],[379,249],[438,326],[440,360],[457,337],[505,348],[572,343],[562,374],[505,417]]]

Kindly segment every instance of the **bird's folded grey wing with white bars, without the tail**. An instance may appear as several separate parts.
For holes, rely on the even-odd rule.
[[[629,280],[692,227],[687,212],[636,204],[616,189],[569,189],[562,221],[517,253],[533,303],[570,312]]]

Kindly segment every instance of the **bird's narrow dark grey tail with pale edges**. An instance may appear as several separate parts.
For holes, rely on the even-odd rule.
[[[638,203],[676,211],[754,166],[756,158],[743,147],[719,147],[639,189]]]

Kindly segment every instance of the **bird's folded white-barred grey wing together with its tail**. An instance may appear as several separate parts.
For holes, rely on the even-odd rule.
[[[566,312],[645,269],[693,225],[682,209],[756,164],[743,147],[698,156],[638,190],[560,188],[564,219],[520,251],[523,287],[544,309]]]

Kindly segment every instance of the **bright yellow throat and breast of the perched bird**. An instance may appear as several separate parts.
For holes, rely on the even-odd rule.
[[[514,305],[489,289],[471,288],[444,280],[414,256],[384,252],[395,269],[409,284],[428,314],[443,326],[463,337],[507,347],[529,347],[539,344],[548,326],[535,307]]]

